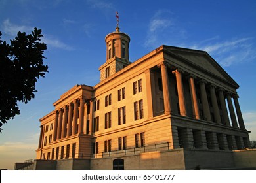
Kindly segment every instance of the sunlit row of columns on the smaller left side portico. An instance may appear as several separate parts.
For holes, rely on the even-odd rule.
[[[87,125],[84,122],[85,111],[87,111],[87,104],[83,97],[56,110],[54,112],[53,141],[84,133],[84,125]]]

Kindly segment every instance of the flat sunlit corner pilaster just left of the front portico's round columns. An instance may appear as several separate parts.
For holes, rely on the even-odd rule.
[[[146,75],[146,95],[148,103],[148,117],[152,118],[156,116],[156,92],[155,92],[155,81],[154,73],[150,69],[145,71]]]

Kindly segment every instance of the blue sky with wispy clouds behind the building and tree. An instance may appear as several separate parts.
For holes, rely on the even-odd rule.
[[[39,118],[75,84],[94,86],[106,61],[105,36],[116,27],[131,37],[136,61],[162,44],[207,51],[238,82],[245,127],[256,140],[256,1],[0,0],[2,39],[42,29],[49,73],[37,82],[35,99],[19,104],[20,116],[3,125],[0,169],[35,158]]]

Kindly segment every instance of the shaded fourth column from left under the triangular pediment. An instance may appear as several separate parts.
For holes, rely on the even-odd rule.
[[[210,113],[207,93],[206,93],[206,89],[205,89],[205,82],[206,82],[205,80],[201,80],[199,82],[201,101],[202,101],[202,105],[203,105],[203,117],[204,117],[203,120],[211,121],[211,113]]]

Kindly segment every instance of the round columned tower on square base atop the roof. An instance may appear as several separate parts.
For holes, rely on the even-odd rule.
[[[131,62],[129,62],[130,37],[121,33],[120,28],[106,35],[106,63],[100,66],[100,81],[114,75]]]

